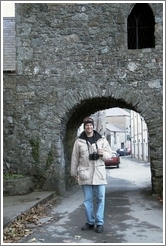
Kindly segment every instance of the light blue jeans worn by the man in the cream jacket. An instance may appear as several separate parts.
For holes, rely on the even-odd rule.
[[[87,223],[103,225],[105,208],[105,185],[82,185]],[[94,204],[94,200],[96,203]]]

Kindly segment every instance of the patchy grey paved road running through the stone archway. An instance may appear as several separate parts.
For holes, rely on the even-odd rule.
[[[107,169],[104,232],[81,231],[85,223],[83,194],[79,186],[60,197],[42,226],[18,243],[43,244],[160,244],[163,207],[151,194],[150,165],[121,157],[120,168]]]

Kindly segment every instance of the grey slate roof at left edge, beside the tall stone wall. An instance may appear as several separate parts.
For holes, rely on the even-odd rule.
[[[3,17],[3,71],[15,70],[15,17]]]

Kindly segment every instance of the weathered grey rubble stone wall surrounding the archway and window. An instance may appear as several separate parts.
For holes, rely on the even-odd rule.
[[[163,4],[149,5],[155,48],[129,50],[134,3],[15,4],[17,69],[3,81],[4,166],[38,175],[43,189],[63,193],[73,185],[71,150],[83,118],[122,107],[147,123],[152,192],[162,192]]]

